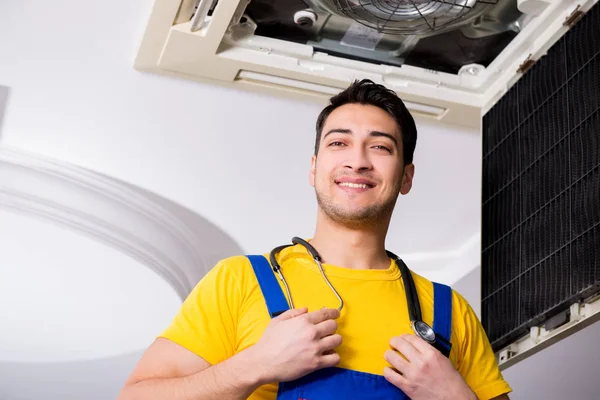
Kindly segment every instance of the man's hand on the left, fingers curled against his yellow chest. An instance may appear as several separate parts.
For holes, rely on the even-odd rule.
[[[286,382],[333,367],[340,356],[333,349],[342,343],[335,334],[337,309],[307,312],[293,309],[273,318],[260,340],[248,349],[263,383]]]

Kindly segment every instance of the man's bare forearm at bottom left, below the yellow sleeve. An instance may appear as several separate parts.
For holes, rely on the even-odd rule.
[[[119,400],[242,400],[263,384],[249,352],[190,376],[145,379],[124,388]]]

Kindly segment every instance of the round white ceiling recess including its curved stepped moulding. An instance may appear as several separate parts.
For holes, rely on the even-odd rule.
[[[0,362],[138,352],[239,246],[204,218],[89,170],[0,146]]]

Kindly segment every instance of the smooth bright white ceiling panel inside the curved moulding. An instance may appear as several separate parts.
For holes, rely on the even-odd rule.
[[[0,243],[0,303],[13,305],[0,307],[0,362],[139,351],[181,304],[145,265],[49,221],[0,209]]]

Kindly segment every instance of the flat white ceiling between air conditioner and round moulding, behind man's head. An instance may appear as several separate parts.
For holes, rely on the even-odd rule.
[[[247,252],[312,235],[319,106],[139,73],[132,62],[152,2],[90,3],[89,19],[76,4],[2,4],[3,143],[171,199]],[[414,188],[388,237],[415,270],[444,268],[478,235],[480,141],[476,130],[419,121]]]

